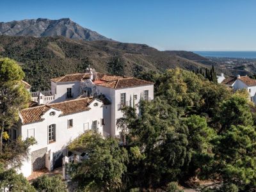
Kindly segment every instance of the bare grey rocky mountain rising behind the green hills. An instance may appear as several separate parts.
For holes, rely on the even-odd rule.
[[[25,19],[0,22],[0,35],[10,36],[65,36],[77,40],[111,40],[90,29],[79,26],[69,18]]]

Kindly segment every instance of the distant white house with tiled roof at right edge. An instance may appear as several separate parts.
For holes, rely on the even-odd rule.
[[[218,83],[219,83],[219,77],[218,77]],[[224,77],[224,75],[223,75]],[[226,86],[232,88],[234,91],[236,90],[247,90],[249,93],[249,99],[256,103],[256,80],[251,79],[248,76],[240,76],[238,75],[237,77],[227,77],[222,80],[223,78],[220,79],[221,84],[225,84]],[[222,80],[222,81],[221,81]]]

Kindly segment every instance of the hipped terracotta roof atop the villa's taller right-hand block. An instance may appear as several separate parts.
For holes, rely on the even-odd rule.
[[[127,87],[132,87],[132,86],[143,86],[143,85],[147,85],[147,84],[154,84],[150,81],[145,81],[145,80],[141,80],[141,79],[137,79],[134,77],[129,77],[129,78],[122,78],[122,79],[118,79],[115,81],[109,81],[106,83],[101,83],[99,84],[100,86],[106,86],[109,88],[127,88]]]

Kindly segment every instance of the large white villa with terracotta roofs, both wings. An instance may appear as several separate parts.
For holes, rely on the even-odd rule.
[[[24,84],[29,91],[31,86]],[[51,79],[51,90],[31,95],[31,106],[20,111],[19,123],[11,129],[12,139],[33,136],[37,141],[20,170],[25,177],[36,170],[62,166],[66,146],[84,131],[120,136],[116,120],[122,117],[121,109],[154,99],[154,83],[90,69]]]

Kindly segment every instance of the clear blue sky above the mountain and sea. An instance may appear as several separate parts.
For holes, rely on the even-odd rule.
[[[0,0],[0,21],[39,17],[159,50],[256,51],[256,0]]]

